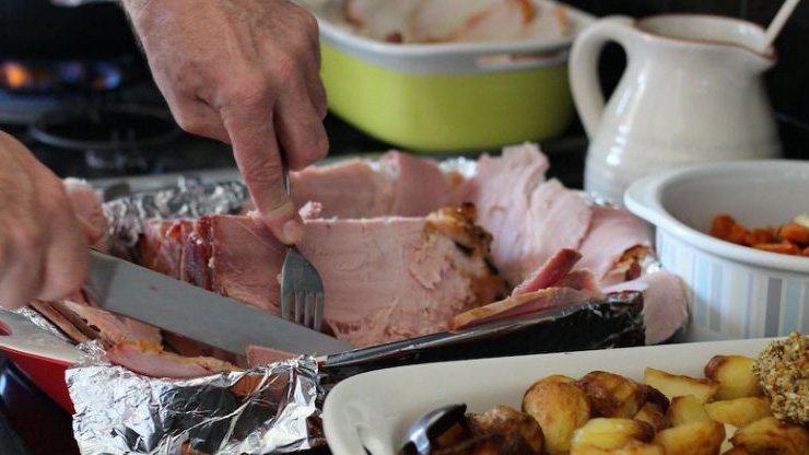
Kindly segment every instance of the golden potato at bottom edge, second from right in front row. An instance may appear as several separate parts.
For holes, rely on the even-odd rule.
[[[691,422],[663,430],[655,435],[667,454],[716,455],[725,441],[725,425],[719,422]]]

